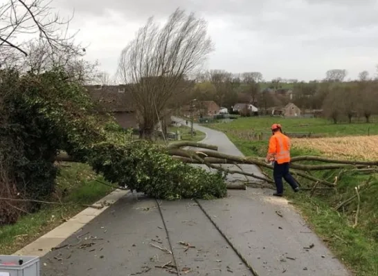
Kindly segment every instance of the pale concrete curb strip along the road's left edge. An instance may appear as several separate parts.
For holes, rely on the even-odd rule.
[[[129,190],[114,190],[109,195],[93,204],[93,206],[103,206],[101,209],[88,207],[82,210],[78,215],[71,217],[68,221],[60,224],[60,226],[57,226],[57,228],[54,228],[42,237],[39,237],[31,244],[21,248],[13,253],[13,255],[43,257],[51,251],[51,248],[64,242],[64,240],[107,210],[107,208],[115,204],[116,201],[127,195],[127,193],[129,193]]]

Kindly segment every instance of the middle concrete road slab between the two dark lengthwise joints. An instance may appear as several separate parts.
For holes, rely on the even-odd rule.
[[[195,201],[164,201],[161,210],[182,275],[253,275]]]

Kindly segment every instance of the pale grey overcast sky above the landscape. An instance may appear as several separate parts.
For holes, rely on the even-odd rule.
[[[255,3],[256,2],[256,3]],[[375,74],[378,0],[53,0],[61,14],[75,10],[73,30],[87,59],[114,74],[120,51],[154,16],[178,7],[208,21],[215,43],[206,67],[259,71],[264,79],[323,79],[328,69]]]

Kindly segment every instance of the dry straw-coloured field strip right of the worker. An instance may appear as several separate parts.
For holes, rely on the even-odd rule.
[[[291,139],[293,147],[311,148],[327,157],[343,159],[378,159],[378,135]]]

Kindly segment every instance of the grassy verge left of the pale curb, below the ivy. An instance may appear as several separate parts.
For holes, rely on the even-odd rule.
[[[86,208],[82,204],[93,204],[111,193],[113,188],[96,179],[103,181],[86,164],[62,164],[57,192],[51,198],[51,201],[61,201],[62,205],[43,206],[39,212],[21,217],[16,224],[0,227],[0,254],[14,253],[80,213]]]

